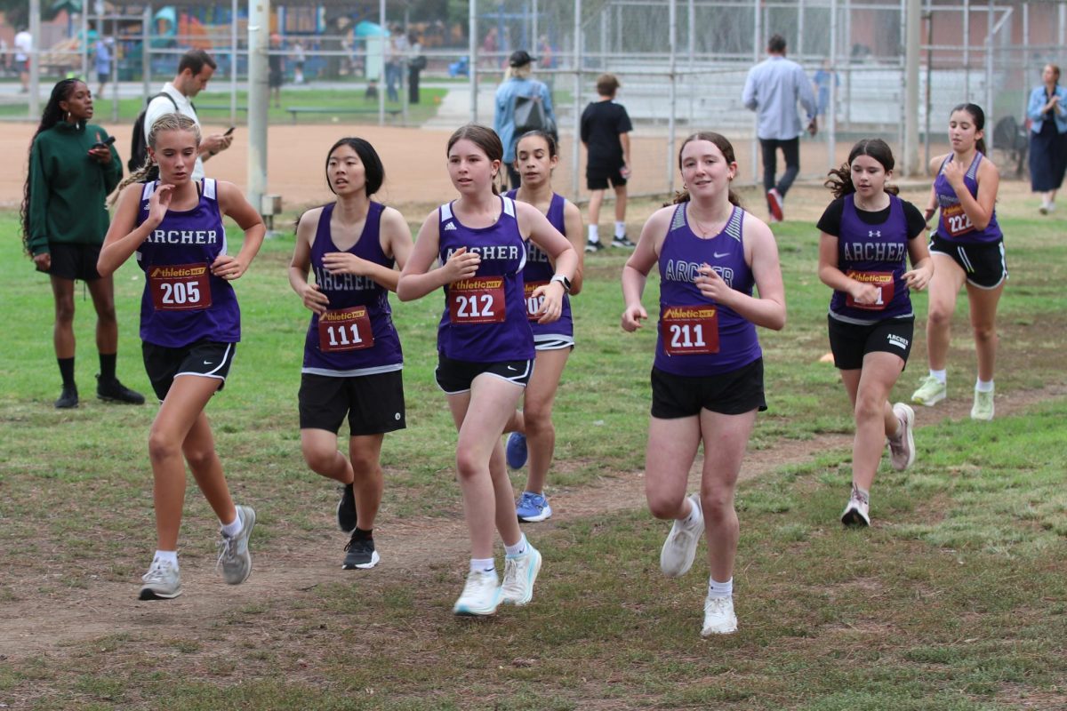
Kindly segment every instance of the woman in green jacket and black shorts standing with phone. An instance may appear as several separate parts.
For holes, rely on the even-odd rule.
[[[96,271],[110,220],[105,199],[123,177],[113,139],[93,117],[93,96],[77,79],[64,79],[41,117],[30,144],[30,171],[22,199],[22,241],[41,272],[51,278],[55,297],[55,358],[63,377],[57,407],[77,407],[74,379],[74,282],[89,286],[96,308],[96,348],[100,374],[96,395],[101,400],[140,405],[144,395],[115,377],[118,324],[114,285]],[[110,139],[110,140],[109,140]]]

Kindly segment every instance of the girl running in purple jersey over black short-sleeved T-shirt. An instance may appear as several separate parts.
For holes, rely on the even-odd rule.
[[[926,230],[922,213],[886,184],[893,165],[885,141],[857,143],[848,162],[830,171],[826,187],[834,200],[818,221],[818,278],[833,289],[830,348],[856,416],[853,491],[841,515],[846,526],[871,524],[871,484],[887,439],[894,469],[915,459],[915,414],[904,403],[891,407],[888,399],[911,352],[915,314],[908,290],[926,287],[934,263],[919,239]]]

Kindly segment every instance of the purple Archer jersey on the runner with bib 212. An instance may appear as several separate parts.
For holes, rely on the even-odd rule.
[[[503,195],[499,199],[500,217],[489,227],[463,225],[451,203],[439,208],[441,263],[460,247],[481,258],[473,277],[444,288],[437,350],[455,360],[501,362],[535,355],[523,294],[526,241],[519,231],[514,200]]]

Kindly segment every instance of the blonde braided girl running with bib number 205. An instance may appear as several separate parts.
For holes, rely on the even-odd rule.
[[[187,116],[164,114],[153,124],[149,165],[159,165],[159,180],[137,182],[139,173],[127,179],[97,262],[100,274],[111,274],[137,254],[145,273],[144,365],[162,401],[148,433],[158,543],[142,600],[181,594],[177,550],[186,463],[219,517],[223,580],[237,585],[252,572],[249,536],[256,514],[230,499],[204,407],[225,384],[241,340],[241,312],[229,282],[248,271],[266,228],[237,185],[190,179],[200,140],[200,128]],[[236,256],[227,249],[223,215],[244,230]]]

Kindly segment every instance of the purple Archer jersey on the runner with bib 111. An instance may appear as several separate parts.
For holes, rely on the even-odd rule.
[[[333,215],[335,205],[323,206],[322,213],[319,215],[315,241],[312,243],[312,271],[315,273],[315,282],[318,285],[319,291],[330,300],[327,308],[331,313],[361,306],[366,309],[371,336],[367,342],[370,345],[367,348],[338,346],[336,350],[331,350],[331,339],[335,344],[338,341],[349,340],[348,337],[352,334],[351,326],[348,326],[347,334],[341,333],[339,329],[346,326],[343,325],[344,322],[338,322],[331,330],[330,324],[320,324],[319,314],[313,313],[312,322],[307,327],[307,337],[304,340],[304,367],[301,372],[333,377],[352,377],[400,370],[403,368],[403,354],[400,351],[400,337],[393,325],[388,289],[367,276],[330,274],[322,265],[323,256],[331,252],[340,252],[334,244],[333,235],[330,231],[330,217]],[[395,260],[387,257],[382,251],[380,239],[384,209],[385,206],[380,203],[370,203],[370,210],[363,224],[363,232],[356,243],[348,249],[348,253],[381,264],[386,269],[393,269]],[[323,326],[322,329],[320,329],[320,325]],[[323,350],[323,343],[327,344],[327,350]]]

